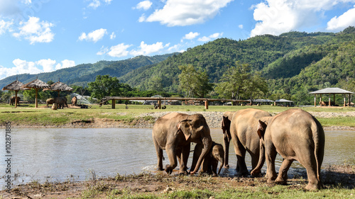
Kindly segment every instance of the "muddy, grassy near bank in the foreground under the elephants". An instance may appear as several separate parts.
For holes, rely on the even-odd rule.
[[[273,185],[266,178],[212,177],[156,174],[120,175],[88,181],[28,183],[0,198],[354,198],[355,166],[329,166],[322,170],[320,191],[305,191],[307,174],[288,179],[287,186]]]

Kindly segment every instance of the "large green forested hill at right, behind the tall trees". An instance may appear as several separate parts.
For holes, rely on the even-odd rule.
[[[212,83],[217,83],[231,64],[239,61],[260,71],[268,82],[265,98],[289,98],[309,101],[307,93],[325,86],[346,88],[354,82],[355,28],[340,33],[290,32],[279,36],[261,35],[247,40],[217,39],[199,45],[158,64],[141,67],[119,79],[142,90],[163,88],[178,91],[178,66],[192,64],[205,69]],[[312,96],[310,96],[312,97]]]

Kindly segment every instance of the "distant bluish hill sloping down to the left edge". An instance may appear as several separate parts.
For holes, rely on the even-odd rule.
[[[77,86],[87,86],[88,82],[94,81],[97,75],[109,74],[110,76],[122,76],[133,69],[143,67],[150,64],[156,64],[165,60],[166,58],[175,55],[155,55],[153,57],[148,56],[138,56],[131,59],[125,59],[121,61],[99,61],[94,64],[79,64],[75,67],[59,69],[54,72],[47,72],[41,74],[18,74],[15,76],[9,76],[5,79],[0,80],[0,88],[10,84],[16,80],[21,81],[26,84],[38,76],[38,79],[48,82],[48,81],[60,81],[65,82],[65,84],[75,84]]]

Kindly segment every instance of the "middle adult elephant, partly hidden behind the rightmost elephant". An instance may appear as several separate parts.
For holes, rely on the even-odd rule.
[[[258,127],[258,120],[266,120],[271,114],[254,108],[246,108],[236,112],[226,112],[222,118],[222,130],[224,137],[224,162],[228,165],[229,142],[234,144],[237,165],[236,171],[239,176],[249,174],[246,167],[246,152],[251,155],[252,169],[256,167],[259,159],[260,144],[259,137],[255,134]]]

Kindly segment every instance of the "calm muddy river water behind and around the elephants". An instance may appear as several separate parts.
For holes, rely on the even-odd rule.
[[[1,140],[5,130],[1,129]],[[222,144],[222,130],[212,129],[212,139]],[[355,164],[355,132],[326,131],[326,147],[322,166],[332,164]],[[195,144],[191,148],[195,147]],[[0,188],[4,188],[6,168],[5,146],[0,142]],[[151,129],[136,128],[41,128],[17,129],[11,132],[11,179],[13,183],[31,181],[84,181],[116,174],[139,174],[154,171],[157,157]],[[164,151],[165,161],[168,157]],[[192,153],[188,165],[192,161]],[[276,167],[281,157],[277,157]],[[247,153],[246,164],[251,169]],[[231,144],[229,149],[230,169],[222,169],[224,176],[234,176],[236,156]],[[289,173],[302,168],[294,161]],[[177,168],[178,169],[178,168]],[[266,171],[264,164],[263,171]],[[13,176],[16,174],[16,178]]]

